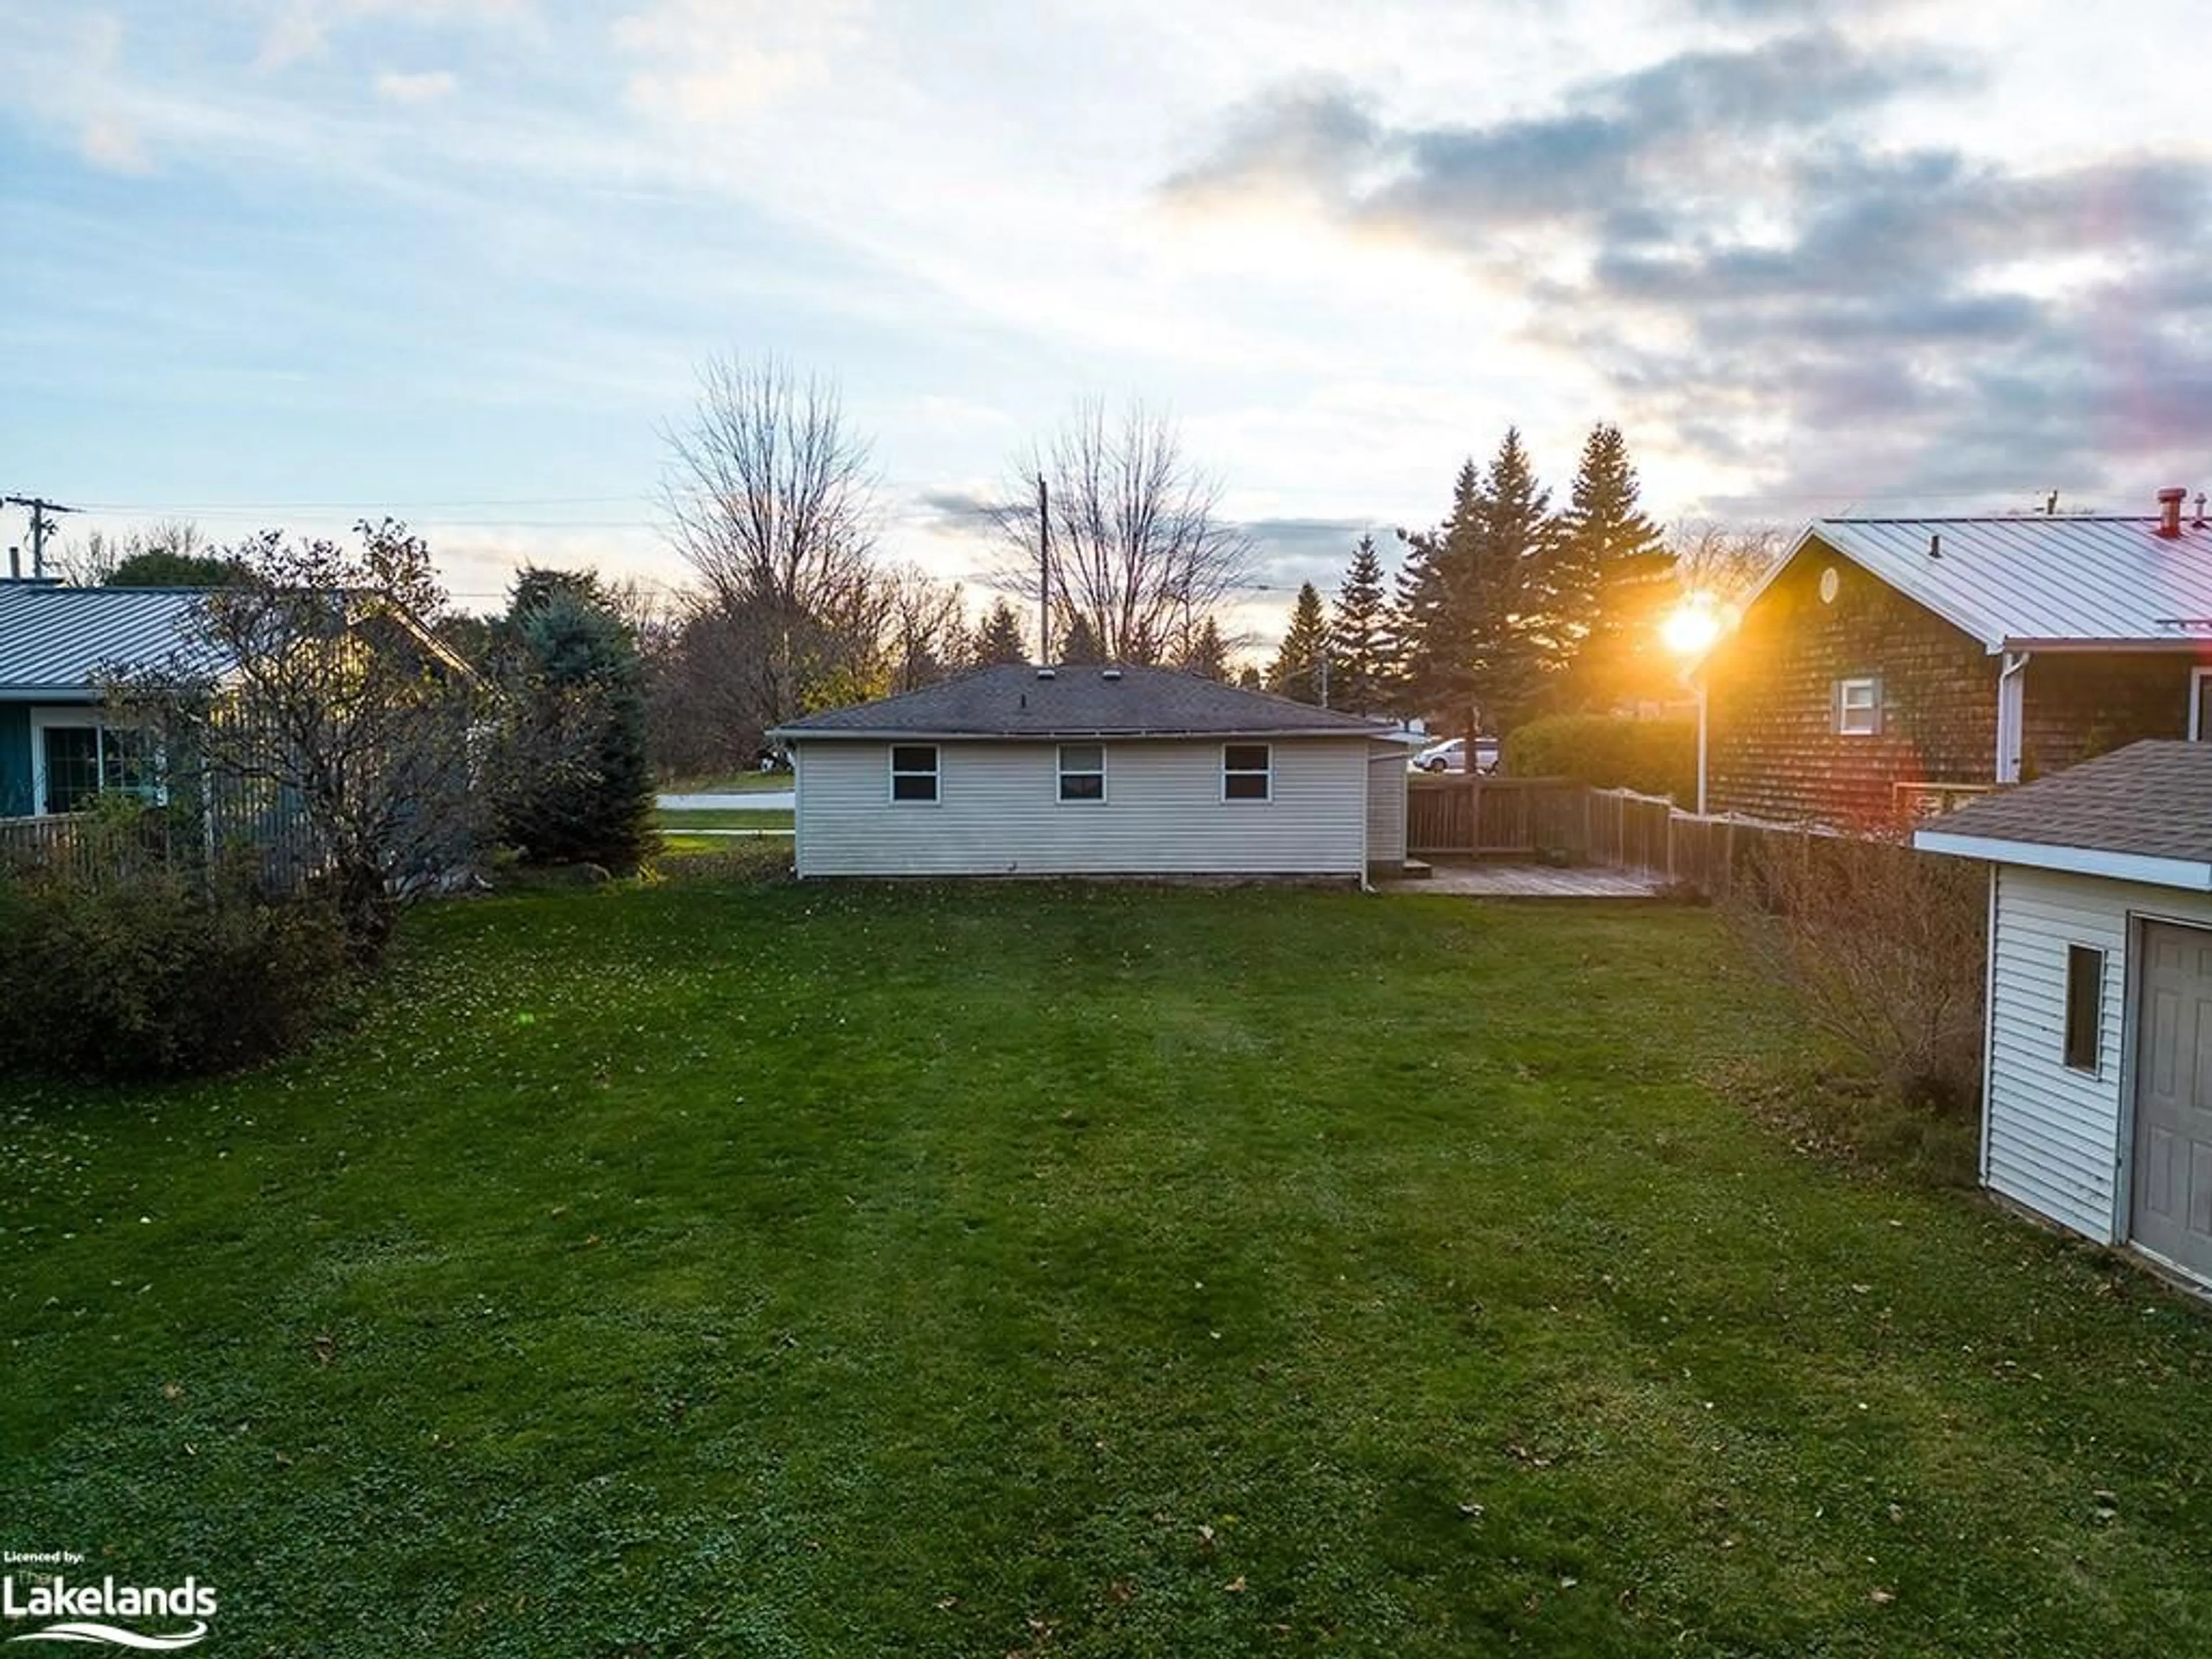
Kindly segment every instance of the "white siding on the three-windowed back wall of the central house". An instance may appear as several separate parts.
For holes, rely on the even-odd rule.
[[[1221,739],[1117,739],[1108,799],[1082,810],[1057,743],[938,743],[929,812],[885,801],[887,748],[794,745],[801,876],[1365,874],[1365,737],[1272,739],[1267,801],[1221,799]]]

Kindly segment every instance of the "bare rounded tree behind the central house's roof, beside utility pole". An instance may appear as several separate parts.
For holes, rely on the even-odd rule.
[[[1006,593],[1037,591],[1037,478],[1051,518],[1055,644],[1082,624],[1108,661],[1188,655],[1243,580],[1252,542],[1221,518],[1221,484],[1183,453],[1175,422],[1141,403],[1108,418],[1091,400],[1015,460],[1009,502],[991,513],[1009,549],[993,582]]]

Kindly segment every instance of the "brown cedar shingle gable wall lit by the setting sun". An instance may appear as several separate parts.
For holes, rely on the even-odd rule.
[[[1838,593],[1820,602],[1820,571]],[[1836,732],[1836,681],[1882,681],[1882,730]],[[1989,783],[1997,659],[1820,544],[1805,546],[1705,668],[1705,807],[1885,821],[1891,783]]]

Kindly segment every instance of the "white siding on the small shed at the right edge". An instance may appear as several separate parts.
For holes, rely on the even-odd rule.
[[[2212,896],[1997,867],[1982,1179],[2099,1243],[2112,1243],[2126,1219],[2135,918],[2212,922]],[[2066,956],[2075,945],[2104,951],[2095,1071],[2066,1064]]]

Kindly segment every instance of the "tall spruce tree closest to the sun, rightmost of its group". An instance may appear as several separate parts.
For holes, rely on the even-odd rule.
[[[1663,697],[1668,664],[1657,635],[1674,557],[1644,518],[1619,427],[1597,425],[1582,445],[1559,549],[1555,604],[1573,626],[1566,697],[1590,708]]]

